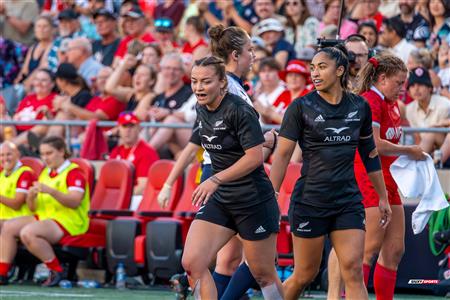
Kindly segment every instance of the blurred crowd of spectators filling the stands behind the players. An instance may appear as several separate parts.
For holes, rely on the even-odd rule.
[[[252,38],[253,65],[242,79],[262,124],[280,124],[288,105],[312,90],[317,39],[338,36],[349,52],[350,90],[368,59],[389,51],[410,71],[398,99],[403,124],[449,127],[449,0],[347,0],[342,20],[339,12],[339,0],[0,0],[0,118],[118,120],[102,129],[107,156],[145,161],[137,168],[145,177],[159,157],[179,155],[191,130],[140,122],[193,124],[190,69],[210,52],[207,29],[223,24]],[[71,136],[72,148],[90,138],[82,127],[65,130],[0,124],[0,142],[34,155],[46,137]],[[450,157],[445,134],[408,142]],[[151,155],[138,160],[138,148]]]

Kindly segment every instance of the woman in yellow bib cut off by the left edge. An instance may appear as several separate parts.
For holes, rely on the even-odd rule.
[[[31,215],[25,203],[28,190],[35,180],[31,168],[20,160],[16,145],[4,142],[0,145],[0,231],[6,220]]]

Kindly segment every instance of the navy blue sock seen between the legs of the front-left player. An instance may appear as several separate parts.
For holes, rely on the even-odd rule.
[[[236,272],[234,272],[227,289],[223,293],[222,298],[219,299],[221,300],[239,299],[245,294],[245,292],[249,288],[255,285],[258,285],[258,283],[256,282],[255,278],[250,272],[248,265],[244,262],[239,266]]]

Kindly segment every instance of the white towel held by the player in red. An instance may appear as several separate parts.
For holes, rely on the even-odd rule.
[[[449,206],[433,160],[428,154],[424,161],[411,160],[402,155],[392,163],[390,171],[404,197],[420,198],[411,220],[414,234],[419,234],[434,211]]]

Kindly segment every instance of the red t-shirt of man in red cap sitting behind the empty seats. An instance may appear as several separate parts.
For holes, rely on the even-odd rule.
[[[159,155],[149,144],[140,140],[134,147],[117,146],[111,151],[111,159],[130,161],[136,169],[136,178],[147,177],[148,169],[157,160]]]

